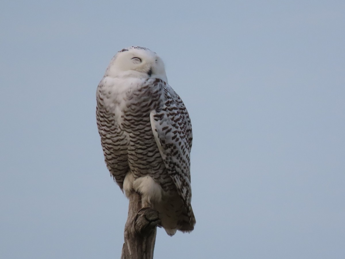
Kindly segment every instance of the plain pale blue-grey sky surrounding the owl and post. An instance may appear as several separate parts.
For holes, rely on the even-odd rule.
[[[120,258],[96,87],[138,45],[193,124],[195,230],[155,258],[345,258],[345,2],[0,3],[0,258]]]

